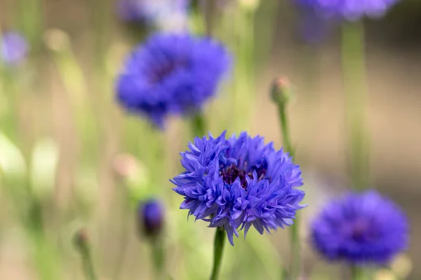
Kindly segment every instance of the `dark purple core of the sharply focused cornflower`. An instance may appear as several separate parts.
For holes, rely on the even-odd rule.
[[[230,165],[230,166],[221,166],[220,169],[220,175],[222,176],[222,179],[224,180],[225,183],[231,185],[232,183],[235,182],[236,178],[240,179],[241,182],[241,187],[243,187],[243,189],[247,188],[247,180],[246,180],[246,175],[249,178],[253,178],[253,171],[256,171],[256,173],[258,173],[258,181],[262,180],[263,178],[265,178],[267,169],[265,168],[265,166],[260,166],[258,167],[253,167],[253,168],[249,168],[248,171],[244,170],[245,168],[240,168],[239,166],[236,166],[234,164]]]

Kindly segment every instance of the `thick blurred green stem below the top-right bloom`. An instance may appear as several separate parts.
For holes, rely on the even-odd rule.
[[[342,76],[345,88],[345,114],[349,138],[349,172],[356,189],[369,185],[369,154],[365,130],[366,66],[363,22],[342,26]]]

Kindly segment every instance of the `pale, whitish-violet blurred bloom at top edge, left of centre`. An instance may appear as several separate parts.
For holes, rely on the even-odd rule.
[[[187,29],[189,0],[120,0],[119,18],[126,22],[142,22],[161,30]]]

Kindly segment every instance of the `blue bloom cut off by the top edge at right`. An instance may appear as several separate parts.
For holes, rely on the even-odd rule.
[[[399,0],[295,0],[298,4],[313,8],[324,18],[359,20],[364,15],[380,17]]]

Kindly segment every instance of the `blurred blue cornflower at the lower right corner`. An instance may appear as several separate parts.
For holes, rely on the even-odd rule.
[[[407,243],[406,215],[373,190],[331,201],[312,224],[316,251],[351,265],[385,265]]]

